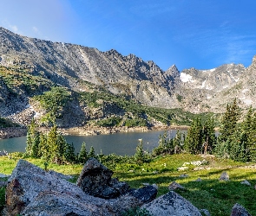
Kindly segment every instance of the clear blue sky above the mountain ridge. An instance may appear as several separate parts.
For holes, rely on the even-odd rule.
[[[163,70],[248,67],[255,0],[0,0],[0,25],[20,35],[154,60]]]

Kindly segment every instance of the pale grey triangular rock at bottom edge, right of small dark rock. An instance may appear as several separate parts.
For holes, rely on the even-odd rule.
[[[153,216],[201,216],[198,208],[174,191],[144,204],[141,209],[147,209]]]

